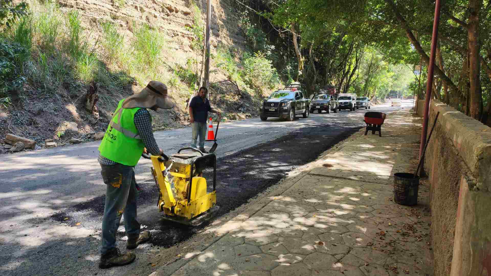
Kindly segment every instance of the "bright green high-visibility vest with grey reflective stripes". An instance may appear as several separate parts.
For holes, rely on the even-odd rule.
[[[135,113],[140,108],[123,109],[121,105],[124,100],[119,101],[99,151],[102,156],[116,163],[136,166],[145,147],[134,122]]]

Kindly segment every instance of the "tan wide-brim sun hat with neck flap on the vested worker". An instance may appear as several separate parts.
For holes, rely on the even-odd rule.
[[[157,81],[150,81],[139,93],[131,95],[122,104],[124,109],[151,109],[155,106],[161,109],[171,109],[176,106],[167,93],[167,86]]]

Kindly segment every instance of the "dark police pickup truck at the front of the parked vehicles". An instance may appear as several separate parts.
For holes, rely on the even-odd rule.
[[[269,98],[263,100],[259,107],[259,117],[266,121],[268,117],[295,120],[297,115],[307,118],[310,111],[310,100],[303,96],[300,90],[289,87],[271,93]]]

